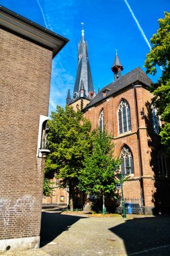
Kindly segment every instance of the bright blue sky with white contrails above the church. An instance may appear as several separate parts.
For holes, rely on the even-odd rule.
[[[85,24],[97,91],[98,86],[103,88],[114,80],[110,67],[116,49],[123,75],[138,66],[145,71],[144,60],[149,52],[146,38],[149,41],[157,32],[157,20],[164,17],[163,12],[170,11],[169,0],[0,0],[0,4],[70,40],[52,61],[49,113],[56,104],[65,106],[68,88],[73,93],[81,22]],[[157,75],[150,78],[156,82],[160,75],[158,69]]]

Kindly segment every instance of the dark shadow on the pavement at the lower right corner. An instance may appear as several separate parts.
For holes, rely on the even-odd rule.
[[[165,255],[161,254],[162,249],[170,255],[170,216],[134,218],[110,230],[123,239],[128,255],[142,255],[142,251],[145,255],[144,250],[151,251],[151,255],[158,255],[154,251]]]

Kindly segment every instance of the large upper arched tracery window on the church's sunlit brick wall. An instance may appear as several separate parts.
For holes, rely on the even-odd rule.
[[[126,100],[122,100],[118,107],[118,127],[119,134],[131,131],[130,107]]]

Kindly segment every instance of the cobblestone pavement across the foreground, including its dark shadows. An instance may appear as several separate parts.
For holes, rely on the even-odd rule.
[[[41,248],[6,256],[170,255],[169,216],[97,218],[42,212]]]

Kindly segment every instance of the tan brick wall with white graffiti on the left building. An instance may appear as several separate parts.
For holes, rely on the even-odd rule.
[[[3,239],[40,234],[44,159],[36,150],[40,115],[48,116],[52,52],[5,30],[0,35],[1,247]]]

